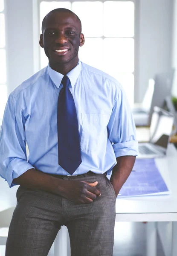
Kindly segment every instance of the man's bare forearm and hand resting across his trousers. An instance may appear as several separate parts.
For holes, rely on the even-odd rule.
[[[91,183],[80,180],[62,180],[36,169],[27,170],[15,178],[14,183],[61,195],[75,204],[89,204],[97,196],[100,196],[100,192],[96,188],[98,181]]]

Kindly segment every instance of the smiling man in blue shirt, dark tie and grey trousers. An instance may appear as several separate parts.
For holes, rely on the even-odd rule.
[[[6,256],[47,256],[61,225],[72,256],[112,256],[116,196],[137,155],[135,127],[120,84],[79,61],[83,44],[73,12],[49,12],[40,37],[49,65],[9,95],[0,174],[20,186]]]

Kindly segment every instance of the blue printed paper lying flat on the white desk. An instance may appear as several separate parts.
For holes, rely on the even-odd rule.
[[[170,193],[154,159],[136,159],[133,170],[122,186],[118,198]]]

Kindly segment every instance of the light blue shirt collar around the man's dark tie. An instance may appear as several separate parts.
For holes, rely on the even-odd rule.
[[[79,60],[77,66],[75,66],[72,70],[70,70],[70,72],[67,73],[67,76],[69,77],[70,82],[71,82],[71,87],[73,87],[75,85],[75,82],[81,73],[81,66],[82,66],[81,61]],[[52,68],[49,66],[49,64],[48,64],[47,70],[48,70],[50,78],[52,79],[52,81],[54,82],[56,87],[59,88],[59,86],[61,84],[61,80],[63,79],[64,75],[62,75],[61,73],[58,73],[55,70],[52,70]]]

